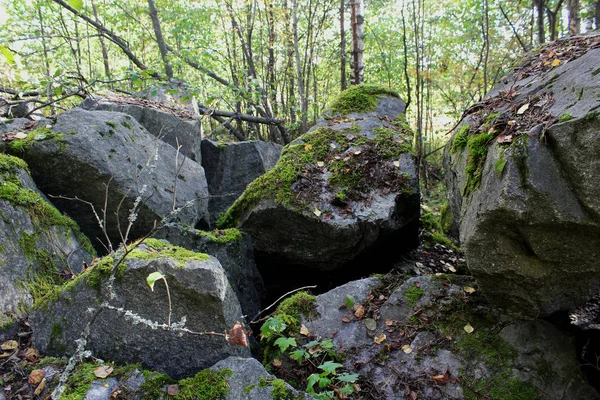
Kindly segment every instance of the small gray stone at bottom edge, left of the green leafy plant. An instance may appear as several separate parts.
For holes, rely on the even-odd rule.
[[[229,357],[219,361],[210,369],[214,371],[228,369],[232,372],[231,376],[225,377],[230,390],[223,400],[272,400],[274,398],[271,394],[273,386],[266,383],[277,378],[269,374],[265,367],[254,358]],[[261,381],[265,383],[261,384]],[[312,399],[312,396],[297,391],[287,383],[285,387],[290,396],[286,398]]]

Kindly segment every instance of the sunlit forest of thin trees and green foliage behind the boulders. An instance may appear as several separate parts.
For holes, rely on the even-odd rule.
[[[231,122],[237,139],[287,142],[364,81],[407,101],[426,155],[524,52],[599,13],[596,0],[0,0],[0,94],[48,116],[89,93],[184,81],[207,131]]]

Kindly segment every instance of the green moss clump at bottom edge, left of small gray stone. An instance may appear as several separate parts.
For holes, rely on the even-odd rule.
[[[202,370],[192,378],[179,381],[179,394],[175,399],[181,400],[216,400],[229,393],[229,384],[225,377],[231,376],[231,370],[219,372]]]

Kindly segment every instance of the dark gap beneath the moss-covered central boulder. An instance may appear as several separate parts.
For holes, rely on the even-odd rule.
[[[262,304],[270,305],[282,295],[303,286],[316,285],[310,292],[319,295],[354,280],[390,272],[397,262],[408,257],[409,252],[419,245],[418,228],[418,220],[410,222],[348,264],[331,271],[310,265],[294,265],[281,257],[256,252],[256,264],[265,283],[266,295]]]

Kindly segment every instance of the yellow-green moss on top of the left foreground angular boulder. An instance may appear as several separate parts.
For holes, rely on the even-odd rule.
[[[145,249],[140,248],[141,245]],[[145,261],[170,258],[175,260],[175,265],[179,268],[184,268],[186,262],[206,261],[210,258],[208,254],[196,253],[158,239],[144,239],[141,245],[132,245],[134,248],[127,254],[127,258]]]

